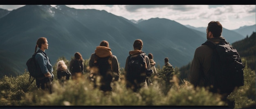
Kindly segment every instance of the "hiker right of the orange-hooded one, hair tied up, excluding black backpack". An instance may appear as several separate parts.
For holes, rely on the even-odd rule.
[[[129,76],[131,72],[129,72],[129,66],[128,61],[129,57],[137,57],[139,54],[144,55],[144,61],[145,61],[145,69],[151,69],[150,61],[148,56],[145,52],[142,51],[143,42],[141,39],[136,39],[133,43],[134,50],[129,52],[129,56],[126,59],[125,64],[125,72],[126,72],[126,87],[129,89],[132,89],[133,92],[137,92],[138,89],[142,87],[148,87],[146,82],[146,73],[141,72],[141,74],[138,77]],[[152,70],[151,70],[152,71]],[[152,73],[152,72],[151,72]]]

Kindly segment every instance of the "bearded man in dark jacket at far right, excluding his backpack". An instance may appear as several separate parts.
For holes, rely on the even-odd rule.
[[[218,44],[219,42],[225,42],[224,37],[222,37],[222,25],[218,21],[211,21],[207,26],[207,41],[211,41],[213,44]],[[191,63],[191,68],[189,72],[189,81],[195,87],[206,87],[209,86],[210,74],[208,73],[211,67],[211,57],[213,54],[213,50],[207,46],[202,45],[196,48],[193,61]],[[223,95],[222,100],[226,101],[228,95]],[[234,102],[228,101],[230,107],[234,108]]]

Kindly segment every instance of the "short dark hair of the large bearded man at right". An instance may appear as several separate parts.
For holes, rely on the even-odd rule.
[[[211,31],[213,37],[220,37],[222,33],[222,25],[219,21],[211,21],[208,24],[208,32]]]

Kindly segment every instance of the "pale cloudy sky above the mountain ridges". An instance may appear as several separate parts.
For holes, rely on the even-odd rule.
[[[24,5],[0,5],[12,11]],[[55,7],[56,5],[52,5]],[[105,10],[128,20],[166,18],[183,25],[207,27],[219,21],[229,30],[256,24],[256,5],[66,5],[75,9]]]

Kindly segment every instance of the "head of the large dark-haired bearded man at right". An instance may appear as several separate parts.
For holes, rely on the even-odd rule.
[[[206,33],[207,39],[220,37],[222,33],[222,25],[219,21],[211,21],[207,26]]]

